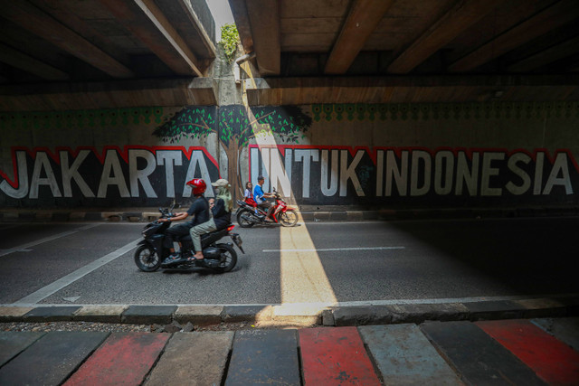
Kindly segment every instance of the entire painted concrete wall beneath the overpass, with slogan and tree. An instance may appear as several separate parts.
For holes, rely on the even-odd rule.
[[[157,206],[258,174],[304,205],[576,205],[579,104],[129,108],[0,115],[0,205]]]

